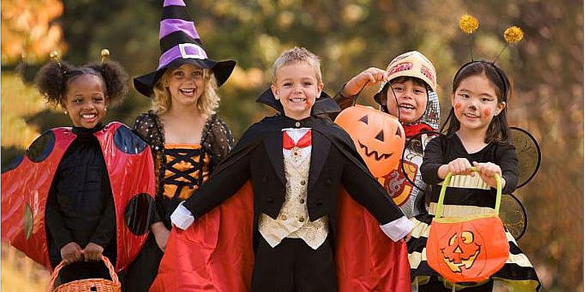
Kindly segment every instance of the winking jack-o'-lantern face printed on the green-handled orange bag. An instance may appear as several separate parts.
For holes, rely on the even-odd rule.
[[[464,231],[455,233],[449,238],[448,245],[440,249],[443,260],[455,273],[461,273],[461,269],[471,269],[481,251],[474,238],[474,233]]]

